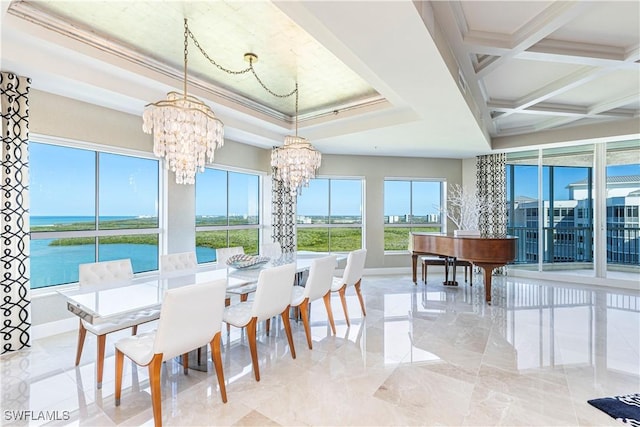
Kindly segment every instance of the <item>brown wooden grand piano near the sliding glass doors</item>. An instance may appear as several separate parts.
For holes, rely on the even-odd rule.
[[[440,255],[471,261],[484,270],[484,290],[487,302],[491,302],[491,272],[496,267],[516,259],[517,237],[476,237],[438,234],[411,233],[411,263],[413,282],[416,280],[418,255]]]

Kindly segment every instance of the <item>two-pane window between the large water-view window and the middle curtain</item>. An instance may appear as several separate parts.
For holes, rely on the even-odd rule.
[[[257,254],[260,232],[258,175],[206,168],[196,175],[196,256],[216,260],[216,248],[242,246]]]

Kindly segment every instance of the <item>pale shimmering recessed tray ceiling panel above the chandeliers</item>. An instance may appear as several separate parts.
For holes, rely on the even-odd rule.
[[[184,18],[202,51],[230,71],[247,69],[248,52],[258,55],[255,71],[275,94],[299,84],[299,112],[339,108],[377,92],[271,2],[39,1],[33,7],[73,26],[182,70]],[[188,44],[188,73],[216,87],[293,116],[295,97],[275,96],[251,75],[222,71]],[[182,89],[181,87],[179,89]]]

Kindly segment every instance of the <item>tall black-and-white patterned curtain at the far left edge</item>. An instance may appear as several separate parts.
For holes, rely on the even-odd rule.
[[[2,354],[30,346],[29,88],[0,72],[2,106]]]

